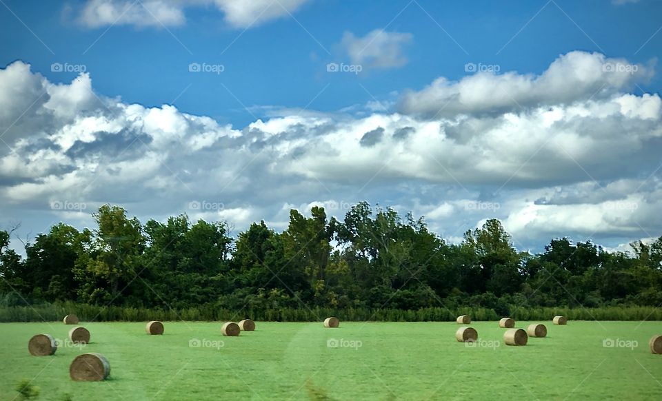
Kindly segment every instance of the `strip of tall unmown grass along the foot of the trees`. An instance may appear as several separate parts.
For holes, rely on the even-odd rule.
[[[61,320],[68,313],[76,313],[83,321],[141,322],[146,320],[253,320],[277,322],[321,321],[328,316],[337,316],[349,321],[381,322],[426,322],[453,321],[457,316],[468,314],[473,320],[499,320],[503,316],[494,309],[481,307],[442,307],[418,310],[399,309],[264,309],[229,310],[211,306],[187,309],[143,309],[134,307],[101,307],[98,305],[75,304],[73,302],[52,305],[0,307],[0,322],[43,322]],[[556,315],[570,320],[662,320],[659,307],[598,307],[598,308],[523,308],[511,307],[515,320],[551,320]]]

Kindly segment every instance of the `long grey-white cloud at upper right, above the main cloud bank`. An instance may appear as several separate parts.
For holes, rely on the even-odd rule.
[[[605,99],[652,77],[652,66],[609,59],[603,54],[570,52],[545,72],[479,72],[460,81],[441,77],[418,92],[408,92],[399,110],[424,116],[494,113],[574,101]]]

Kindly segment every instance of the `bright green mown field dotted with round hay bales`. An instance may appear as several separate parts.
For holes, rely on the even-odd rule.
[[[34,357],[32,335],[64,339],[72,326],[0,324],[0,400],[14,399],[21,379],[43,400],[662,399],[662,355],[648,349],[662,322],[545,322],[548,337],[525,347],[503,345],[497,322],[472,324],[474,347],[454,339],[450,322],[257,322],[234,338],[220,322],[165,322],[163,336],[146,335],[144,323],[82,325],[89,345],[61,342],[54,356]],[[83,352],[108,358],[108,380],[69,379]]]

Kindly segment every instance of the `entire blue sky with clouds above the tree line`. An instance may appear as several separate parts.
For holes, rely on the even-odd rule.
[[[361,200],[450,242],[662,235],[662,1],[0,0],[0,229]]]

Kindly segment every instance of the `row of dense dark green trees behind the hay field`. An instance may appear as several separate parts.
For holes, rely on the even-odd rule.
[[[264,221],[232,238],[228,225],[185,214],[142,224],[103,205],[97,227],[59,223],[25,244],[0,231],[0,305],[77,302],[109,307],[252,311],[481,307],[658,307],[662,236],[632,251],[554,238],[518,251],[499,220],[461,243],[430,232],[423,218],[368,203],[344,220],[323,207],[296,209],[283,232]]]

